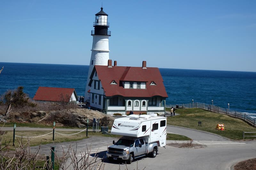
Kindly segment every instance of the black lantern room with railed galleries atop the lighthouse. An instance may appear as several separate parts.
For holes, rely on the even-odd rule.
[[[111,32],[108,31],[108,14],[103,11],[103,8],[100,8],[100,12],[95,14],[95,22],[93,22],[94,30],[92,30],[91,35],[111,35]]]

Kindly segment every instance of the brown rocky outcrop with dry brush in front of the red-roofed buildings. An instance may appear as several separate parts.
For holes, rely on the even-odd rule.
[[[45,123],[52,124],[53,121],[60,126],[74,126],[84,128],[87,125],[92,126],[93,118],[100,119],[99,126],[112,126],[115,118],[110,115],[103,114],[99,111],[76,108],[76,109],[63,109],[53,111],[37,111],[33,113],[22,112],[10,114],[8,122],[31,122],[31,123]]]

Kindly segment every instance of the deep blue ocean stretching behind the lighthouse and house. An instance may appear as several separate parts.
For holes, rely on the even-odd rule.
[[[0,63],[0,96],[24,87],[33,98],[39,86],[75,88],[84,96],[88,65]],[[167,105],[205,103],[256,114],[256,72],[159,68]]]

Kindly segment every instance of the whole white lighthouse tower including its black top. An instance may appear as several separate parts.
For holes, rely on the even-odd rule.
[[[84,101],[89,100],[88,91],[90,90],[89,81],[94,65],[108,65],[109,48],[108,38],[111,32],[108,31],[108,14],[100,8],[100,12],[95,14],[95,22],[93,22],[94,30],[92,30],[92,55],[85,87]]]

